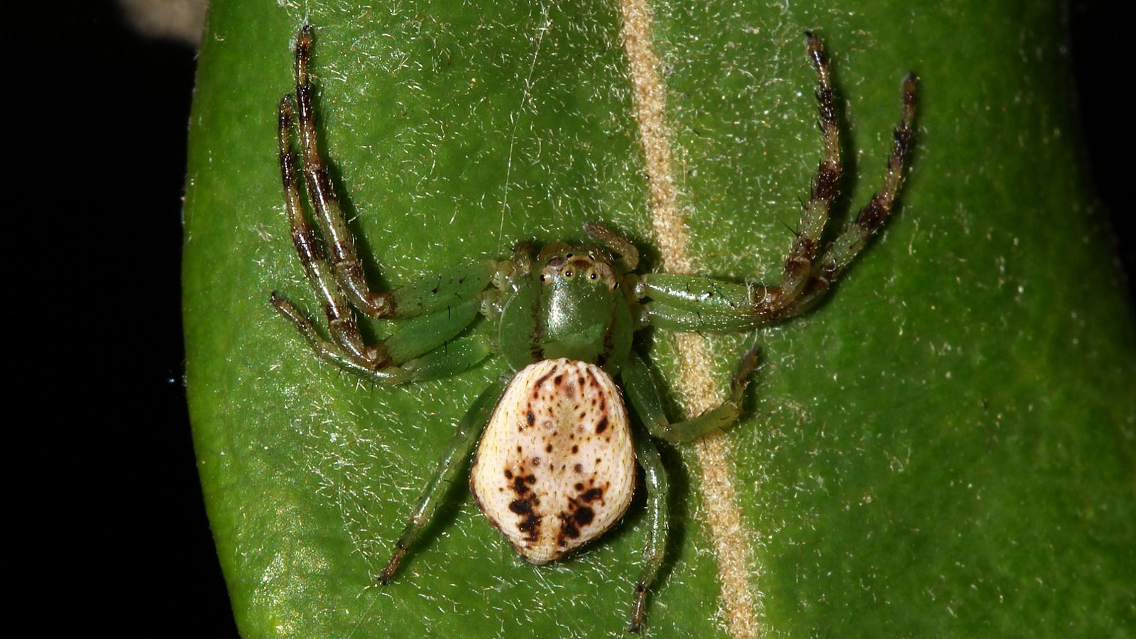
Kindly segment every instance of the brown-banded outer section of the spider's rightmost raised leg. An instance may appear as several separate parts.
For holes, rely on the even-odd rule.
[[[903,78],[902,97],[903,114],[900,125],[892,135],[892,155],[887,158],[883,186],[860,209],[855,219],[825,249],[824,255],[812,267],[812,276],[804,293],[792,306],[782,309],[778,317],[791,317],[815,306],[892,213],[895,196],[903,182],[908,151],[914,139],[916,103],[919,97],[919,84],[914,74],[908,74]]]

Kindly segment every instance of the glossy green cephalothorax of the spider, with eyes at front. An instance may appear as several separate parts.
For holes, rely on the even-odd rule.
[[[632,321],[613,262],[596,247],[544,247],[501,315],[501,350],[513,368],[563,357],[619,373]]]

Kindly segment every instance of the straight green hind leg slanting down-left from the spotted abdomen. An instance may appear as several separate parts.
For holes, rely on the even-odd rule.
[[[469,458],[469,453],[474,449],[474,445],[481,439],[482,431],[485,430],[485,424],[488,423],[498,398],[504,391],[507,381],[507,379],[499,379],[490,384],[487,389],[477,396],[477,399],[470,405],[465,416],[458,422],[458,429],[454,431],[453,437],[450,438],[450,442],[446,443],[442,456],[438,457],[434,473],[426,480],[426,486],[423,487],[421,492],[418,495],[415,508],[410,513],[410,521],[407,522],[402,536],[399,537],[399,541],[394,545],[391,559],[386,563],[386,567],[383,569],[378,578],[379,583],[385,586],[391,581],[394,573],[399,570],[402,558],[407,556],[407,551],[418,538],[418,533],[434,517],[438,504],[445,496],[445,491],[453,483],[454,475],[462,468],[462,463]]]

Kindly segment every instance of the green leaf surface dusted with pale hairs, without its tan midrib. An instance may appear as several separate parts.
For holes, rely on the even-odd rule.
[[[268,305],[278,290],[318,315],[275,150],[304,19],[320,141],[373,281],[578,240],[585,221],[650,248],[618,3],[308,5],[211,3],[190,127],[190,409],[237,624],[620,634],[642,497],[600,542],[533,567],[459,483],[395,581],[373,587],[453,424],[503,364],[370,388],[317,362]],[[900,80],[922,78],[900,207],[829,300],[758,334],[762,366],[727,435],[761,624],[1131,636],[1136,334],[1085,185],[1059,8],[824,5],[654,5],[679,206],[707,274],[778,276],[820,155],[805,28],[833,58],[843,114],[834,227],[879,183]],[[743,341],[710,338],[722,388]],[[642,347],[674,384],[673,341]],[[696,459],[663,458],[677,528],[648,632],[725,636]]]

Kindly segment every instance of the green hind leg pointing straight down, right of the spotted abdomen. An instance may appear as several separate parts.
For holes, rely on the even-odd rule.
[[[632,599],[632,612],[627,630],[638,632],[643,628],[643,612],[646,608],[646,594],[654,584],[667,550],[667,531],[670,530],[670,511],[667,508],[667,471],[659,458],[659,450],[651,442],[643,429],[636,429],[632,438],[635,442],[635,460],[643,468],[644,488],[646,489],[646,536],[643,542],[643,570],[635,582],[635,596]]]

